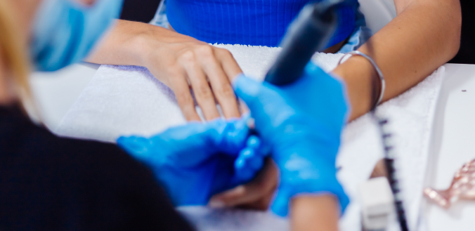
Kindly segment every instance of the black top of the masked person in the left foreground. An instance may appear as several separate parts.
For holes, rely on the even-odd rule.
[[[0,230],[192,230],[115,145],[58,138],[0,107]]]

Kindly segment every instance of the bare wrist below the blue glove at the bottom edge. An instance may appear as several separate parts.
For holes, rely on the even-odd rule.
[[[306,196],[292,199],[292,231],[338,230],[337,199],[332,196]]]

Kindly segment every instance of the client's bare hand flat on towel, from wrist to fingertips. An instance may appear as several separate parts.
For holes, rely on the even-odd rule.
[[[242,70],[228,50],[166,29],[160,36],[143,36],[144,44],[150,47],[145,54],[145,67],[174,91],[188,121],[200,120],[190,89],[193,89],[205,119],[219,117],[216,100],[224,117],[240,117],[230,80]]]

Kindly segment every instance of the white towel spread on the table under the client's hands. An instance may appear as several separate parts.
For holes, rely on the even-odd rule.
[[[263,79],[280,48],[216,45],[233,53],[245,74]],[[324,70],[337,65],[342,54],[313,56]],[[416,230],[422,199],[422,181],[429,153],[429,140],[444,68],[422,83],[378,108],[389,118],[398,153],[405,208],[410,230]],[[122,135],[151,136],[170,126],[185,124],[173,92],[144,67],[103,65],[67,113],[56,133],[61,136],[115,142]],[[377,127],[365,115],[344,131],[337,165],[338,178],[351,198],[341,218],[341,230],[361,230],[358,185],[369,178],[382,158]],[[181,208],[200,230],[288,230],[285,220],[255,211]],[[278,225],[276,225],[278,224]],[[216,229],[216,227],[220,227]],[[395,220],[391,225],[396,228]]]

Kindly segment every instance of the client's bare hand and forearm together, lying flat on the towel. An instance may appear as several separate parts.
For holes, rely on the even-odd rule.
[[[226,49],[162,27],[118,20],[87,61],[147,67],[174,91],[188,121],[200,121],[190,89],[205,119],[220,117],[216,101],[226,119],[240,117],[230,81],[242,70]]]

